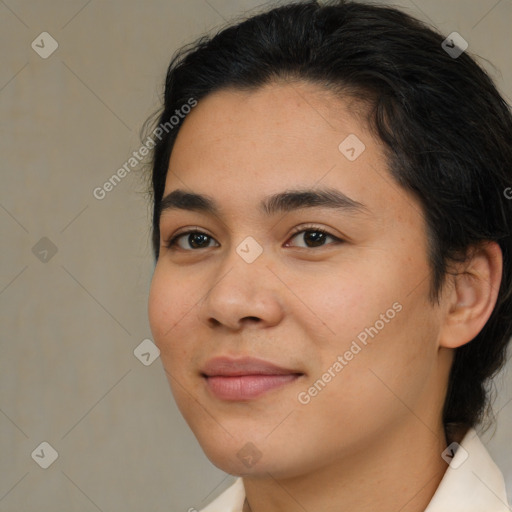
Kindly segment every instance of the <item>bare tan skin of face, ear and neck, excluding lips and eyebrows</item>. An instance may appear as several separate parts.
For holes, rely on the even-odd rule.
[[[188,115],[172,151],[164,196],[207,194],[218,216],[169,210],[149,297],[155,343],[174,397],[209,459],[242,475],[254,512],[423,511],[446,463],[441,411],[453,353],[489,317],[501,253],[483,244],[439,304],[418,201],[391,178],[383,147],[354,103],[308,83],[221,90]],[[356,134],[366,149],[338,149]],[[271,217],[266,196],[335,188],[359,213],[304,208]],[[310,224],[330,235],[308,246]],[[210,239],[194,248],[187,229]],[[314,229],[313,229],[314,231]],[[236,252],[248,236],[263,249]],[[309,403],[319,379],[394,303],[402,309]],[[206,389],[200,370],[215,356],[254,356],[303,375],[247,401]],[[248,467],[246,443],[261,455]],[[246,448],[247,449],[247,448]],[[253,449],[254,451],[254,449]],[[255,452],[256,453],[256,452]]]

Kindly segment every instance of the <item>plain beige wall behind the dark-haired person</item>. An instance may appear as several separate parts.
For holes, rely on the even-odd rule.
[[[140,147],[173,51],[258,4],[0,0],[0,511],[187,511],[231,482],[177,412],[160,359],[133,354],[151,338],[143,181],[92,191]],[[512,0],[396,5],[461,33],[512,97]],[[47,59],[31,48],[43,31],[59,45]],[[46,262],[32,250],[42,237],[57,249]],[[512,495],[510,372],[497,385],[484,439]],[[43,441],[58,452],[48,469],[31,457]]]

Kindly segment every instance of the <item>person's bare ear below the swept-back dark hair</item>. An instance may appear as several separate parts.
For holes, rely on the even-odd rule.
[[[446,287],[441,347],[457,348],[469,343],[482,330],[496,305],[503,270],[500,246],[485,242],[473,247],[468,256],[456,267],[456,274]]]

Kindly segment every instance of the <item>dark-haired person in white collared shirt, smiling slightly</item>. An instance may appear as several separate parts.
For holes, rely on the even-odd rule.
[[[512,334],[512,118],[392,8],[289,4],[172,60],[155,342],[205,512],[503,512],[479,440]]]

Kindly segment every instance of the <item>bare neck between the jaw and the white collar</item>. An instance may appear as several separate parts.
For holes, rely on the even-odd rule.
[[[244,477],[243,512],[423,512],[447,464],[442,425],[385,432],[329,465],[293,478]]]

